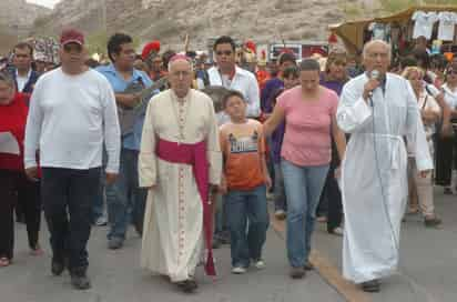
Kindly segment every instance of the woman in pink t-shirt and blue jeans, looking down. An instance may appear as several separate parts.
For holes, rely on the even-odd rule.
[[[331,162],[332,137],[339,158],[346,140],[336,123],[337,94],[319,85],[319,64],[313,59],[299,66],[301,85],[278,99],[264,131],[270,135],[285,120],[281,152],[287,197],[287,256],[291,276],[301,279],[312,269],[308,256],[316,208]]]

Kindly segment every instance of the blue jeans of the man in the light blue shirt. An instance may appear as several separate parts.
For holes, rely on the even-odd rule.
[[[139,187],[138,154],[135,150],[122,149],[119,175],[113,184],[106,185],[106,205],[110,221],[108,239],[125,239],[130,222],[142,233],[144,204],[148,189]]]

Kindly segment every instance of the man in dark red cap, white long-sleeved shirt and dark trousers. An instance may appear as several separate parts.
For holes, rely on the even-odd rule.
[[[110,184],[118,175],[121,134],[110,83],[84,66],[84,36],[65,30],[60,41],[62,67],[40,78],[30,101],[24,164],[27,175],[37,180],[39,150],[52,274],[62,274],[67,266],[72,285],[87,290],[87,244],[100,188],[103,141]]]

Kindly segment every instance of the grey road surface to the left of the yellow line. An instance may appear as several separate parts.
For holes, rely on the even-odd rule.
[[[43,228],[45,229],[45,228]],[[251,270],[245,275],[230,273],[230,250],[216,251],[220,276],[216,282],[206,279],[202,269],[197,280],[199,292],[184,295],[160,276],[151,276],[139,266],[141,242],[132,232],[124,249],[109,251],[105,228],[93,229],[90,241],[90,271],[93,289],[78,292],[71,288],[68,274],[52,276],[47,254],[32,258],[28,254],[26,231],[18,225],[14,265],[0,270],[1,302],[283,302],[283,301],[344,301],[344,299],[316,273],[303,281],[291,280],[287,273],[283,240],[271,230],[265,249],[267,268]],[[43,239],[47,234],[43,232]],[[3,300],[4,299],[4,300]]]

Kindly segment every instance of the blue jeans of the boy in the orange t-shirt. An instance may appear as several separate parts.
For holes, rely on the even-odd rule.
[[[232,265],[247,268],[251,259],[262,258],[262,248],[268,228],[266,188],[260,185],[247,191],[231,190],[225,195],[225,202],[231,234]]]

